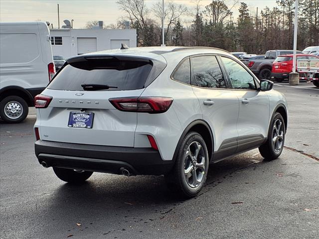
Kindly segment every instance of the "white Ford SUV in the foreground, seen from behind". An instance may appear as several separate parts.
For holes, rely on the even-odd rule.
[[[63,181],[165,175],[187,197],[209,163],[259,147],[277,158],[285,97],[230,53],[140,47],[72,57],[35,98],[35,154]]]

